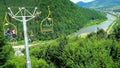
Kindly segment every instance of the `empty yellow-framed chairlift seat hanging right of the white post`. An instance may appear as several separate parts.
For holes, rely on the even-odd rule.
[[[51,17],[51,11],[48,6],[48,16],[41,21],[40,30],[44,32],[54,32],[53,31],[53,18]]]

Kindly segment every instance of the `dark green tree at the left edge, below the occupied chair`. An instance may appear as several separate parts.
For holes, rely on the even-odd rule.
[[[0,68],[7,62],[7,60],[13,55],[13,49],[10,45],[7,45],[5,37],[3,35],[2,24],[0,23]]]

